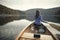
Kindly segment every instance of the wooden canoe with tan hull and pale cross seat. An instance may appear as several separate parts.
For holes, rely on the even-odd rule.
[[[41,24],[44,26],[43,24]],[[44,33],[37,33],[36,30],[32,30],[34,23],[25,27],[17,36],[16,40],[55,40],[49,30],[45,27]]]

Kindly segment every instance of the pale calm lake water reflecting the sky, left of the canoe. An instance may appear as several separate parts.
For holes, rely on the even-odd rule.
[[[0,40],[15,40],[21,30],[30,23],[31,21],[21,19],[0,26]]]

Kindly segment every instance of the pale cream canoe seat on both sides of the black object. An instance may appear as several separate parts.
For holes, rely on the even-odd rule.
[[[41,37],[38,38],[39,40],[53,40],[51,35],[42,35],[42,34],[40,34],[40,35],[41,35]],[[21,37],[28,38],[28,39],[36,39],[36,38],[34,38],[33,33],[24,33]]]

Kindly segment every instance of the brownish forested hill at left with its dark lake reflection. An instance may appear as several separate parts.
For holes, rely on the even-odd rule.
[[[20,14],[23,13],[20,10],[14,10],[6,6],[0,5],[0,25],[13,20],[19,20]]]

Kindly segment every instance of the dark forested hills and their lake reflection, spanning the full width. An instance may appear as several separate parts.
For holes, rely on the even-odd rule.
[[[20,19],[34,20],[36,10],[40,10],[43,20],[60,22],[60,7],[42,9],[33,8],[26,11],[15,10],[0,4],[0,25]]]

